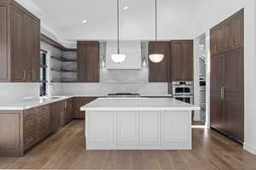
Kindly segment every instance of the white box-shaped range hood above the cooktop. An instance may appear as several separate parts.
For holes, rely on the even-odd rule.
[[[125,61],[115,63],[111,59],[112,54],[117,53],[117,42],[107,41],[106,68],[108,70],[140,70],[142,69],[142,45],[141,41],[121,41],[120,53],[125,54]]]

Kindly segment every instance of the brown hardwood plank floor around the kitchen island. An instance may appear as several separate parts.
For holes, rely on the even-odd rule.
[[[256,156],[215,131],[193,129],[193,150],[84,150],[84,121],[70,122],[0,169],[256,170]]]

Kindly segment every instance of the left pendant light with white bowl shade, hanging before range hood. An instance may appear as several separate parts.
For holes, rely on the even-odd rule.
[[[115,63],[122,63],[125,60],[126,55],[120,54],[120,49],[119,49],[119,0],[117,0],[117,42],[118,42],[118,49],[117,49],[118,54],[112,54],[111,58]]]

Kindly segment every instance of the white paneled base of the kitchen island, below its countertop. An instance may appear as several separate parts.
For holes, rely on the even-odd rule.
[[[86,111],[86,150],[191,150],[191,111]]]

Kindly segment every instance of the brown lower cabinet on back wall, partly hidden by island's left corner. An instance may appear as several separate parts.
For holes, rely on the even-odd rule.
[[[80,111],[80,108],[83,105],[90,103],[91,101],[95,100],[96,98],[75,98],[75,116],[74,118],[83,119],[84,118],[84,111]]]

